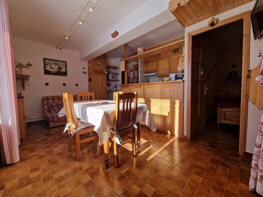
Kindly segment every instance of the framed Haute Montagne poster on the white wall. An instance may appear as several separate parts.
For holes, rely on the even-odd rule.
[[[67,76],[67,62],[44,58],[44,74]]]

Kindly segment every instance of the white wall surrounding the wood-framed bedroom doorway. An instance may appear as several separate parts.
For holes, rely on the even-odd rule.
[[[245,5],[236,7],[232,10],[229,10],[227,12],[224,12],[222,14],[219,14],[217,16],[215,16],[215,18],[217,18],[218,21],[220,20],[224,20],[226,18],[235,16],[237,14],[246,12],[248,10],[252,10],[253,5],[254,5],[255,1],[251,1],[250,3],[247,3]],[[191,25],[189,27],[185,28],[185,32],[184,32],[184,36],[185,36],[185,43],[184,46],[188,47],[188,33],[191,31],[194,31],[196,29],[200,29],[202,27],[207,26],[208,21],[210,20],[210,18],[203,20],[201,22],[198,22],[194,25]],[[251,29],[251,42],[250,42],[250,69],[255,68],[256,66],[258,66],[258,64],[260,63],[259,61],[256,60],[256,57],[258,55],[259,52],[259,48],[263,48],[263,39],[259,39],[254,41],[253,40],[253,32]],[[187,65],[187,60],[189,58],[188,56],[188,49],[185,50],[185,62]],[[185,73],[187,73],[187,66],[185,67]],[[188,108],[188,103],[187,103],[187,80],[188,80],[188,76],[185,76],[185,82],[184,82],[184,120],[187,119],[187,108]],[[248,123],[247,123],[247,147],[246,147],[246,151],[252,153],[253,149],[254,149],[254,144],[255,144],[255,137],[257,134],[257,130],[258,130],[258,125],[259,125],[259,121],[260,121],[260,117],[262,115],[263,111],[259,111],[257,109],[256,106],[254,106],[251,102],[249,102],[249,108],[248,108]],[[184,135],[186,135],[186,121],[184,121]]]

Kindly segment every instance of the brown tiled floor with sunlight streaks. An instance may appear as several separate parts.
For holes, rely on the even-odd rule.
[[[138,156],[126,142],[122,166],[113,166],[111,150],[107,170],[97,141],[82,146],[76,162],[63,130],[28,125],[20,162],[0,168],[1,196],[256,196],[248,188],[251,155],[237,154],[234,130],[210,127],[187,141],[142,128]]]

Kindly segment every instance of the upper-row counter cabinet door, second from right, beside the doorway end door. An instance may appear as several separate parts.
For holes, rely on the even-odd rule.
[[[161,84],[144,85],[144,100],[161,101]]]

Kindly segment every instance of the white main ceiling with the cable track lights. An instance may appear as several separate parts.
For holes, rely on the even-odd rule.
[[[89,4],[94,6],[98,1],[91,0]],[[149,0],[100,0],[63,48],[81,51],[147,1]],[[65,34],[88,0],[8,0],[8,3],[15,37],[53,46],[58,46],[63,40],[61,47],[66,41]],[[88,13],[89,7],[80,18],[83,20]],[[69,35],[78,25],[76,22]]]

